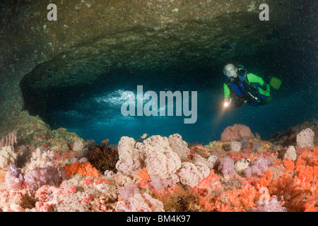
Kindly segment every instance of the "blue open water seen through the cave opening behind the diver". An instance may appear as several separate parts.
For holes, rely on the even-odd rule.
[[[250,71],[264,74],[261,69]],[[311,71],[312,72],[312,71]],[[299,71],[299,73],[304,73]],[[220,70],[215,75],[197,78],[192,76],[153,75],[151,78],[134,79],[134,74],[117,75],[114,81],[104,81],[94,88],[83,89],[72,97],[62,97],[49,105],[47,122],[52,129],[64,127],[76,132],[84,139],[93,139],[100,143],[106,138],[117,144],[122,136],[139,139],[143,133],[149,136],[169,136],[179,133],[184,141],[207,144],[219,141],[220,134],[227,126],[244,124],[252,133],[259,133],[262,140],[269,140],[279,131],[304,121],[317,119],[317,73],[284,77],[279,90],[273,90],[273,100],[264,106],[244,105],[238,109],[224,110],[223,80]],[[136,78],[140,78],[136,75]],[[217,79],[216,79],[217,78]],[[148,90],[159,92],[197,91],[197,120],[194,124],[184,124],[182,116],[126,116],[121,107],[124,91],[130,90],[136,95],[137,85],[143,85],[143,93]],[[144,102],[146,103],[146,101]],[[159,105],[159,103],[158,103]],[[190,103],[191,107],[191,103]]]

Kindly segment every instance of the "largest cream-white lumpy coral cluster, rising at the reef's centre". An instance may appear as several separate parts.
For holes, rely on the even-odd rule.
[[[134,176],[146,167],[151,177],[167,179],[181,167],[182,160],[179,156],[187,157],[188,151],[187,143],[177,133],[170,136],[170,140],[165,136],[155,135],[143,143],[125,136],[119,141],[119,161],[116,168],[127,176]],[[178,152],[182,154],[179,155]]]

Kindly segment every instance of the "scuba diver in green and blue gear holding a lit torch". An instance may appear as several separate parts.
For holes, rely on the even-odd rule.
[[[257,107],[271,101],[270,85],[248,73],[244,66],[226,64],[223,73],[228,77],[223,85],[225,107],[240,107],[245,103]]]

